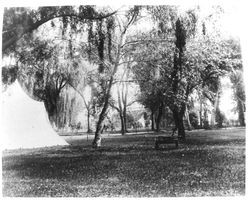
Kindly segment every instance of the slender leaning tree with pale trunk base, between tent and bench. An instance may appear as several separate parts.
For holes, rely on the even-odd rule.
[[[96,33],[93,33],[92,38],[89,38],[89,42],[94,42],[97,48],[97,54],[95,54],[93,51],[91,51],[91,54],[98,56],[96,60],[99,62],[99,74],[102,77],[100,85],[103,89],[103,105],[96,124],[93,147],[101,146],[102,124],[107,114],[115,74],[117,73],[122,59],[122,49],[126,40],[127,31],[128,28],[133,23],[135,23],[138,14],[139,7],[135,6],[131,9],[128,9],[128,11],[125,13],[124,19],[120,19],[118,15],[114,15],[114,17],[111,19],[106,20],[106,32],[103,29],[104,23],[102,20],[100,20],[96,26]],[[116,32],[116,35],[113,35],[113,38],[111,27],[113,28],[114,32]],[[92,32],[91,29],[90,32]],[[108,44],[106,49],[107,52],[105,52],[105,39]],[[115,43],[112,41],[115,41]]]

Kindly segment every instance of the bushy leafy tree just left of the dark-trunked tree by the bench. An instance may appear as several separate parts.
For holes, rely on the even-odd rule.
[[[130,45],[131,56],[135,65],[132,68],[134,80],[139,84],[140,94],[138,101],[151,111],[151,129],[159,131],[163,117],[163,110],[166,106],[164,101],[162,74],[163,61],[169,62],[171,57],[171,46],[164,46],[166,42],[155,39],[155,31],[139,33],[133,37]],[[159,41],[162,46],[159,46]]]

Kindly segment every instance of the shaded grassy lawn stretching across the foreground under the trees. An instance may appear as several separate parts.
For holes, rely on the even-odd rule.
[[[245,129],[187,132],[186,143],[154,149],[154,134],[106,136],[92,149],[4,151],[3,196],[173,197],[245,194]]]

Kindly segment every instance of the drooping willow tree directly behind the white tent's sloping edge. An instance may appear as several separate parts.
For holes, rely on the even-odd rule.
[[[57,28],[47,26],[42,30],[46,32],[55,29]],[[73,98],[69,100],[68,93],[61,95],[61,92],[66,85],[77,82],[84,84],[85,65],[82,58],[72,54],[74,47],[70,40],[71,35],[67,35],[68,39],[63,34],[57,35],[57,41],[60,43],[55,43],[54,36],[46,38],[43,34],[44,31],[38,30],[29,38],[25,36],[21,39],[19,43],[22,46],[16,48],[15,55],[22,81],[26,86],[30,86],[30,92],[36,99],[44,101],[51,122],[60,127],[67,119],[59,117],[65,117],[65,113],[70,118],[73,113],[72,109],[67,108],[67,105],[72,106]]]

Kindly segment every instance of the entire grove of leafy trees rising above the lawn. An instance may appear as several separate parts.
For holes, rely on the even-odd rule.
[[[128,108],[134,103],[150,112],[152,130],[160,131],[163,119],[171,117],[183,140],[186,128],[222,127],[224,77],[233,84],[234,111],[245,126],[239,39],[221,32],[223,8],[201,13],[199,6],[167,5],[5,8],[3,60],[13,57],[15,64],[2,68],[2,81],[18,78],[34,99],[45,103],[57,127],[77,113],[74,105],[80,108],[72,92],[80,96],[88,132],[91,118],[95,121],[93,147],[101,146],[110,111],[117,112],[121,134],[126,134]],[[133,99],[132,83],[139,87]]]

